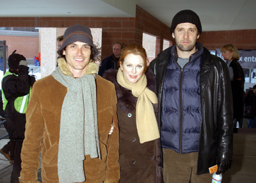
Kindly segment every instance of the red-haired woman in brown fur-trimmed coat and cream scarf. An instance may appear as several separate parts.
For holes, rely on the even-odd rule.
[[[115,84],[118,100],[120,182],[161,182],[156,81],[145,49],[126,45],[118,71],[109,69],[104,77]]]

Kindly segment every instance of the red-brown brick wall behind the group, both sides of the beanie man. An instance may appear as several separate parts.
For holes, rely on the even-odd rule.
[[[171,19],[171,17],[170,17]],[[65,28],[81,24],[90,28],[102,28],[102,58],[112,52],[116,40],[129,44],[142,44],[143,32],[157,36],[156,55],[163,47],[163,39],[172,40],[169,27],[136,7],[136,17],[0,17],[0,27],[47,27]],[[207,49],[220,48],[224,44],[235,44],[238,49],[256,49],[256,29],[238,31],[209,31],[200,36]]]

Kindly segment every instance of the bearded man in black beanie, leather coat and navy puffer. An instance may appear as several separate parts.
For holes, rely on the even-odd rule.
[[[159,97],[164,182],[211,182],[210,167],[217,164],[220,174],[232,163],[228,68],[196,42],[202,26],[195,12],[178,12],[170,33],[176,44],[150,63]]]

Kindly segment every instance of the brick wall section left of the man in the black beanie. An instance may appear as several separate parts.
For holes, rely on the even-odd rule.
[[[102,58],[112,53],[112,44],[120,41],[125,44],[137,42],[142,44],[142,34],[170,39],[168,26],[157,20],[145,10],[136,7],[136,17],[0,17],[0,27],[45,27],[67,28],[81,24],[90,28],[102,28]],[[162,41],[163,44],[163,41]],[[160,44],[157,44],[159,47]],[[160,49],[158,48],[159,52]]]

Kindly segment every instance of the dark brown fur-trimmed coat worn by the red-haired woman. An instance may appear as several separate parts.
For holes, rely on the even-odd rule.
[[[107,70],[104,77],[115,84],[117,115],[120,131],[120,183],[161,182],[160,140],[140,143],[136,128],[137,99],[116,81],[117,70]],[[156,92],[156,80],[151,70],[146,72],[147,87]],[[154,105],[157,114],[157,104]]]

